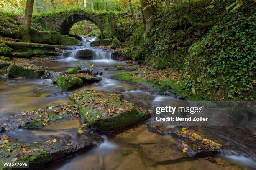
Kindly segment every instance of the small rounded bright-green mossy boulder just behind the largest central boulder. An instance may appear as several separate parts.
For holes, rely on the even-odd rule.
[[[67,91],[77,87],[82,87],[83,80],[72,75],[60,75],[57,78],[57,85],[61,90]]]

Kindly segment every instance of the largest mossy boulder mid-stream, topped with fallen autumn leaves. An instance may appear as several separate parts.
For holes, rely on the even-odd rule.
[[[124,130],[150,117],[148,111],[137,109],[123,100],[121,93],[77,90],[70,95],[79,106],[80,114],[99,133],[108,134]]]

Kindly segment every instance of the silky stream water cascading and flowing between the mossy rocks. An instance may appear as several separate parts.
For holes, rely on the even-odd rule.
[[[77,54],[80,50],[92,50],[92,62],[102,71],[102,80],[97,83],[89,84],[81,89],[115,91],[122,92],[126,100],[135,103],[136,106],[151,108],[153,100],[161,97],[157,91],[142,87],[136,84],[112,80],[110,77],[119,71],[106,70],[107,68],[126,65],[124,62],[111,60],[111,51],[102,50],[96,47],[90,47],[90,42],[96,40],[95,37],[82,37],[82,46],[70,47],[69,50],[62,53],[59,58],[47,61],[35,61],[34,65],[50,67],[51,71],[64,71],[68,67],[74,67],[75,62],[80,59]],[[40,80],[0,80],[0,116],[1,118],[11,118],[15,112],[33,110],[56,104],[62,104],[69,101],[69,94],[61,93],[56,85],[51,83],[50,79]],[[179,100],[172,97],[164,97],[165,100]],[[79,120],[70,120],[67,122],[56,123],[47,126],[42,130],[8,130],[6,134],[18,138],[21,141],[46,141],[54,136],[67,136],[75,139]],[[170,135],[159,135],[148,131],[145,122],[134,128],[126,130],[115,136],[103,136],[105,139],[97,148],[87,153],[78,154],[56,163],[48,169],[60,170],[131,170],[131,169],[254,169],[255,161],[244,155],[234,153],[223,153],[211,158],[182,158],[165,162],[157,161],[161,157],[158,148],[167,144],[175,143]],[[148,158],[143,148],[152,145],[154,157]],[[164,154],[164,152],[163,152]]]

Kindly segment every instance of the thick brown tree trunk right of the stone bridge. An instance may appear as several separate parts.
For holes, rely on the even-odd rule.
[[[148,2],[149,0],[141,0],[142,13],[146,23],[146,31],[144,32],[144,37],[148,37],[151,29],[154,27],[153,19],[149,18],[154,14],[155,7],[153,5],[148,6]]]

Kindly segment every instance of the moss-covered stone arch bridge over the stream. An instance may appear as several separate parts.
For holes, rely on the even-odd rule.
[[[104,38],[104,28],[108,11],[89,11],[83,9],[70,9],[67,11],[53,12],[49,15],[41,16],[41,22],[51,28],[51,30],[59,32],[62,35],[69,35],[71,27],[78,21],[91,21],[98,26],[101,32],[101,38]],[[110,22],[111,30],[114,25]]]

